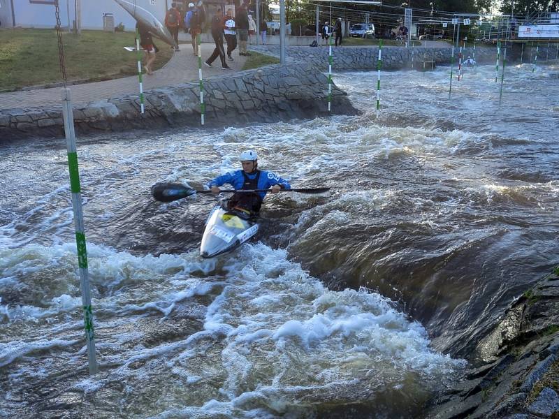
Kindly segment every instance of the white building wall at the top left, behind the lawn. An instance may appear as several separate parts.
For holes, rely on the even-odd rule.
[[[1,0],[0,0],[1,1]],[[134,1],[134,0],[129,0]],[[150,11],[161,23],[165,20],[168,0],[136,0],[136,5]],[[120,7],[114,0],[81,0],[82,29],[103,29],[103,13],[112,13],[115,26],[120,22],[126,31],[133,31],[136,20]],[[59,0],[60,21],[63,27],[68,25],[68,6],[70,8],[70,26],[75,20],[74,0]],[[53,28],[56,24],[55,6],[30,3],[29,0],[15,0],[15,26]]]

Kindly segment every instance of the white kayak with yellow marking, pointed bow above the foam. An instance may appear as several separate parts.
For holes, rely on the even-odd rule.
[[[259,224],[254,219],[241,218],[226,209],[226,201],[217,204],[205,222],[204,235],[200,245],[203,258],[213,258],[236,249],[253,237]]]

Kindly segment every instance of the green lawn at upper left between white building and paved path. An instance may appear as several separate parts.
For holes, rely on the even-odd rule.
[[[68,81],[109,80],[138,73],[131,32],[82,31],[62,35]],[[0,30],[0,90],[17,90],[62,81],[54,29]],[[161,68],[173,51],[159,41],[154,69]]]

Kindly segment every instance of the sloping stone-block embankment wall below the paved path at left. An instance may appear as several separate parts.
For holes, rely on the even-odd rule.
[[[310,65],[266,66],[204,80],[205,126],[312,118],[328,112],[328,79]],[[201,126],[198,82],[75,106],[77,133],[129,128]],[[344,91],[333,86],[333,113],[356,114]],[[64,135],[61,108],[0,111],[0,138]]]

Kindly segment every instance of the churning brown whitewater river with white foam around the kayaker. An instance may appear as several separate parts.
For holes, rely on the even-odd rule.
[[[556,66],[335,82],[363,115],[80,138],[100,372],[87,375],[64,140],[0,145],[0,416],[411,418],[559,263]],[[254,148],[326,196],[266,199],[198,256],[215,198],[161,204]]]

